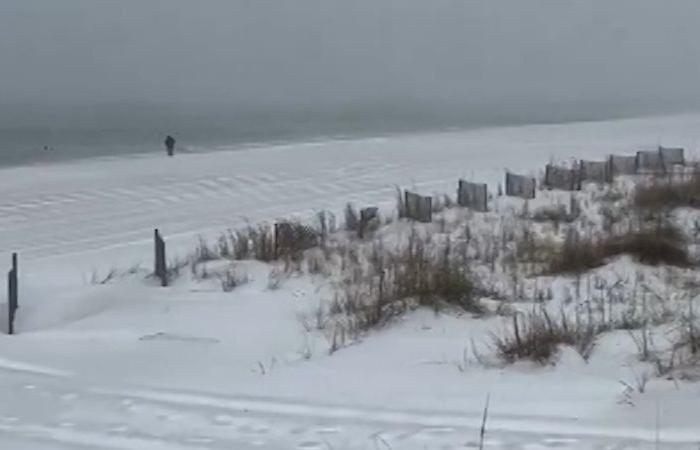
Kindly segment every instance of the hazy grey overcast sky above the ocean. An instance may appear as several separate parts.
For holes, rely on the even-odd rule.
[[[698,0],[2,0],[0,101],[694,102],[699,19]]]

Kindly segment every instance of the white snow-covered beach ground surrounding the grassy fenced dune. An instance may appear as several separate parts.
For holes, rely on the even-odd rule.
[[[565,349],[555,367],[486,368],[465,352],[502,318],[419,310],[329,355],[299,320],[322,296],[308,277],[270,289],[269,268],[246,262],[230,293],[189,276],[90,282],[150,268],[156,227],[176,257],[246,220],[391,208],[395,185],[495,190],[506,168],[694,152],[698,137],[700,116],[677,116],[2,169],[0,268],[20,253],[21,294],[20,334],[0,337],[0,448],[475,447],[487,395],[486,448],[698,448],[700,384],[628,392],[625,333],[587,362]]]

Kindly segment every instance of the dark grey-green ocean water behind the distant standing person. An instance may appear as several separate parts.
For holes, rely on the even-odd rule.
[[[177,151],[210,151],[280,142],[561,123],[639,115],[591,105],[584,108],[444,108],[416,105],[313,108],[228,108],[182,105],[20,105],[0,108],[0,166],[165,152],[168,134]]]

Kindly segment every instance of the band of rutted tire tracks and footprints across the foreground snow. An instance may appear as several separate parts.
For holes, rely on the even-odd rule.
[[[114,450],[476,448],[480,417],[313,405],[193,392],[78,387],[63,379],[2,374],[0,442],[12,448]],[[42,411],[37,414],[36,411]],[[562,418],[490,419],[486,448],[652,449],[645,439],[566,431]],[[562,431],[557,432],[557,429]],[[528,431],[529,430],[529,431]],[[649,434],[649,433],[647,433]],[[641,437],[641,436],[640,436]],[[663,448],[696,449],[693,443]]]

